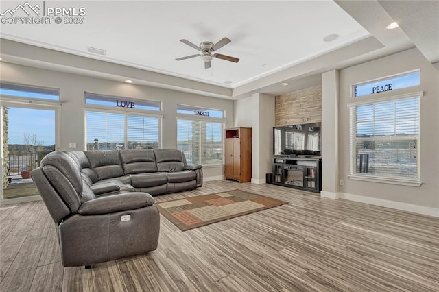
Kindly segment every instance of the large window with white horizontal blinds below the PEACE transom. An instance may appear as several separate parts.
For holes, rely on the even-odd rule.
[[[420,96],[350,105],[351,175],[419,180]]]

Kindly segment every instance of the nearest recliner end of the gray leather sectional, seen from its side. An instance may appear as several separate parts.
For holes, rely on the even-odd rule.
[[[52,152],[32,171],[34,184],[56,223],[64,267],[89,266],[156,250],[160,215],[148,193],[95,196],[81,162]]]

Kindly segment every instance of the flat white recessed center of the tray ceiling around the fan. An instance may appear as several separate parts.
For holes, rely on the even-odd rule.
[[[15,8],[15,3],[2,3],[2,10]],[[2,25],[2,37],[91,58],[97,56],[87,47],[95,47],[106,50],[103,60],[232,87],[368,36],[333,1],[46,1],[46,5],[84,7],[84,23]],[[340,37],[324,42],[329,34]],[[216,52],[240,58],[237,64],[214,59],[213,68],[204,69],[200,58],[175,60],[199,53],[180,42],[182,38],[198,45],[223,37],[232,42]]]

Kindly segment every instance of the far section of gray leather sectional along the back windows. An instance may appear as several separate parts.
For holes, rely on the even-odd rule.
[[[202,186],[201,165],[187,165],[177,149],[71,151],[95,195],[139,191],[150,195],[176,193]]]

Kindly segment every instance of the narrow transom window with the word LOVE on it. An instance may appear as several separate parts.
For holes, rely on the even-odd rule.
[[[85,103],[98,106],[113,106],[119,108],[136,108],[138,110],[160,110],[160,101],[141,99],[128,99],[127,97],[112,97],[108,95],[97,95],[85,93]]]

